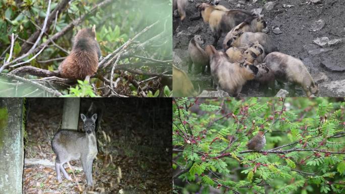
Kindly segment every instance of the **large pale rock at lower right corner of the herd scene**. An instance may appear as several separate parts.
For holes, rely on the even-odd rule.
[[[319,85],[320,96],[343,97],[345,96],[345,79],[331,81]]]

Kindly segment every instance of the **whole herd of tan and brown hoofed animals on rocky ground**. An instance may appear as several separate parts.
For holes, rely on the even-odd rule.
[[[275,80],[302,86],[308,97],[318,93],[318,86],[303,62],[279,53],[277,44],[262,32],[267,25],[262,16],[228,10],[211,2],[197,4],[196,7],[203,21],[209,24],[214,42],[203,49],[202,36],[195,35],[190,40],[189,72],[192,72],[194,65],[194,73],[210,74],[213,87],[232,96],[237,96],[248,80],[259,82],[259,89],[265,91],[270,87],[272,93],[275,93]],[[187,5],[188,0],[173,1],[173,11],[178,10],[181,22],[186,18]],[[226,35],[222,49],[216,50],[223,33]],[[173,68],[172,79],[174,96],[195,96],[200,93],[195,91],[187,74],[176,66]]]

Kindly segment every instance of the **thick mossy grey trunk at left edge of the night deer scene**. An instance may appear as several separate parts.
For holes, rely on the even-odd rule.
[[[0,193],[22,193],[24,99],[0,99]]]

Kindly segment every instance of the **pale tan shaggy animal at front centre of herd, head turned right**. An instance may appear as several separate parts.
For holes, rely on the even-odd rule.
[[[206,53],[210,56],[211,75],[217,89],[222,89],[229,95],[237,96],[247,80],[254,79],[258,68],[247,62],[230,63],[223,52],[207,45]]]

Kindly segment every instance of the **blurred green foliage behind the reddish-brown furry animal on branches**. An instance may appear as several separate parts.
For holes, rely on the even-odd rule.
[[[51,2],[50,12],[54,10],[60,1],[53,0]],[[88,13],[96,4],[102,1],[84,1],[76,0],[70,1],[67,10],[60,14],[57,18],[55,30],[53,31],[53,24],[50,26],[47,33],[49,36],[56,32],[60,32],[64,27],[70,24],[73,20]],[[9,47],[11,44],[11,34],[18,35],[14,43],[13,58],[21,56],[22,45],[30,35],[37,30],[36,26],[41,26],[46,15],[48,1],[46,0],[1,0],[0,1],[0,64],[3,64],[4,59],[9,56]],[[94,14],[88,16],[80,25],[74,27],[68,33],[55,41],[57,45],[63,47],[67,51],[72,49],[72,37],[77,31],[84,27],[92,27],[96,25],[97,41],[100,44],[102,56],[110,54],[119,46],[125,43],[129,38],[132,38],[146,26],[161,21],[159,25],[150,29],[147,33],[141,35],[137,41],[145,41],[158,33],[166,30],[171,34],[172,18],[171,18],[171,3],[169,0],[126,0],[113,1],[109,5],[99,8]],[[154,47],[145,48],[145,53],[152,54],[154,59],[171,60],[172,59],[172,38],[171,35],[162,42],[155,42]],[[46,35],[43,35],[39,44],[47,40]],[[38,45],[39,45],[38,44]],[[30,55],[27,60],[33,55]],[[42,63],[49,59],[66,57],[67,54],[55,46],[47,47],[36,59],[32,60],[30,64],[34,67],[57,70],[57,67],[62,61],[53,61]],[[132,59],[138,61],[138,59]],[[131,61],[131,62],[132,62]],[[124,61],[124,62],[128,62]],[[1,65],[0,65],[1,66]],[[149,67],[142,67],[143,70],[150,70]],[[163,71],[163,70],[161,70]],[[8,69],[3,71],[7,73]],[[115,75],[117,76],[117,75]],[[35,77],[28,77],[35,78]],[[117,78],[117,77],[115,77]],[[149,78],[145,75],[138,75],[139,80]],[[134,89],[134,88],[132,88]]]

